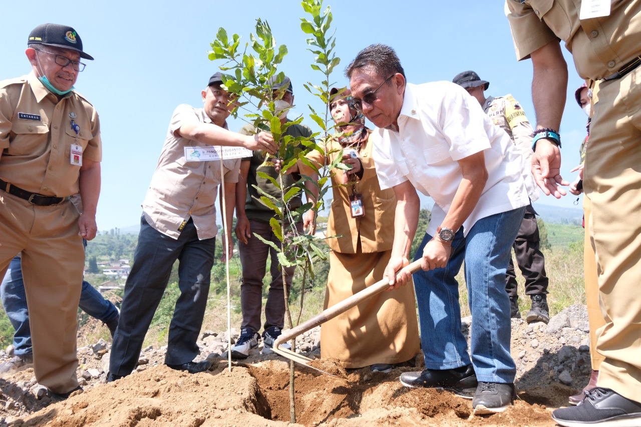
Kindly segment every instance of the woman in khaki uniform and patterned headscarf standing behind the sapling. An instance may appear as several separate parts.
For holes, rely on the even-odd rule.
[[[349,89],[332,88],[331,115],[337,124],[350,124],[337,127],[337,136],[326,141],[324,156],[318,151],[307,156],[320,167],[343,154],[344,163],[353,166],[348,173],[338,170],[331,179],[334,198],[327,235],[341,237],[328,239],[324,309],[381,280],[394,240],[394,191],[379,187],[368,143],[370,131],[352,99]],[[351,150],[358,158],[350,156]],[[304,175],[313,175],[311,168],[299,166]],[[372,371],[388,372],[392,364],[406,362],[419,352],[415,307],[413,286],[372,296],[322,324],[321,357],[338,359],[346,368],[372,366]]]

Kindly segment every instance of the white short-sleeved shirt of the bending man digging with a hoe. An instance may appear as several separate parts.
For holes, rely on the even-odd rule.
[[[458,160],[483,151],[488,180],[463,222],[465,236],[479,219],[538,198],[529,167],[510,137],[492,124],[478,101],[454,83],[405,87],[399,131],[374,129],[374,163],[381,188],[405,181],[434,199],[432,236],[445,218],[463,175]]]

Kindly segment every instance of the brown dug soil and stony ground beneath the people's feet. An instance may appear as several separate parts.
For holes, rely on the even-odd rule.
[[[463,319],[463,331],[469,319]],[[369,368],[325,375],[296,364],[298,425],[366,426],[553,426],[549,412],[567,404],[567,397],[587,382],[590,373],[585,307],[572,306],[549,325],[512,321],[512,355],[517,363],[519,398],[495,415],[474,416],[470,401],[449,392],[408,389],[398,381],[416,366],[395,367],[390,373]],[[67,401],[35,396],[33,367],[25,366],[0,378],[0,427],[24,426],[279,426],[290,420],[287,360],[260,348],[228,370],[227,360],[212,353],[226,334],[206,332],[199,341],[199,360],[212,360],[212,370],[189,375],[163,365],[166,348],[146,348],[136,371],[105,383],[109,343],[99,341],[78,349],[78,376],[85,389]],[[317,331],[304,345],[315,359]],[[234,335],[232,334],[232,337]],[[297,351],[301,351],[297,344]],[[0,359],[8,355],[0,355]],[[310,362],[323,371],[332,360]],[[340,365],[338,365],[340,366]]]

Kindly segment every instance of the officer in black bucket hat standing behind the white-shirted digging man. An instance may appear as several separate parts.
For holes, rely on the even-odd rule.
[[[532,158],[533,130],[523,109],[512,95],[485,97],[485,90],[490,86],[490,83],[481,80],[474,71],[464,71],[457,74],[453,83],[465,88],[470,95],[478,100],[483,111],[492,118],[492,122],[500,126],[510,136],[519,152],[528,159],[529,165]],[[536,212],[530,204],[526,207],[519,235],[512,246],[520,271],[525,278],[525,293],[532,300],[531,309],[526,314],[528,323],[537,321],[547,323],[550,320],[546,297],[548,278],[545,275],[545,259],[539,246]],[[505,277],[507,282],[505,290],[510,295],[510,315],[512,318],[520,318],[517,277],[512,258],[510,258],[510,265]]]

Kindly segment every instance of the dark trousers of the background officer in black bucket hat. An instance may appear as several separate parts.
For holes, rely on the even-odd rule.
[[[514,241],[514,254],[517,264],[525,278],[526,295],[547,294],[548,279],[545,275],[545,259],[540,251],[540,238],[538,235],[537,217],[532,205],[526,211],[519,228],[519,236]],[[510,298],[518,299],[517,276],[514,271],[512,257],[505,273],[507,291]]]

